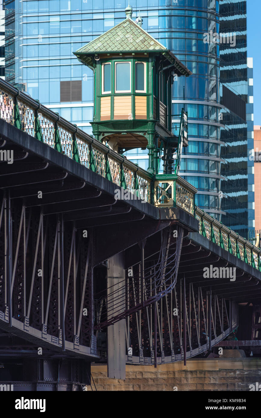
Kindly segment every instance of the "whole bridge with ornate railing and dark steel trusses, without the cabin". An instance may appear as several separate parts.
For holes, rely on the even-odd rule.
[[[126,362],[186,362],[249,306],[240,339],[257,345],[260,248],[177,172],[144,171],[3,80],[0,104],[1,381],[81,390],[91,361],[121,378]]]

